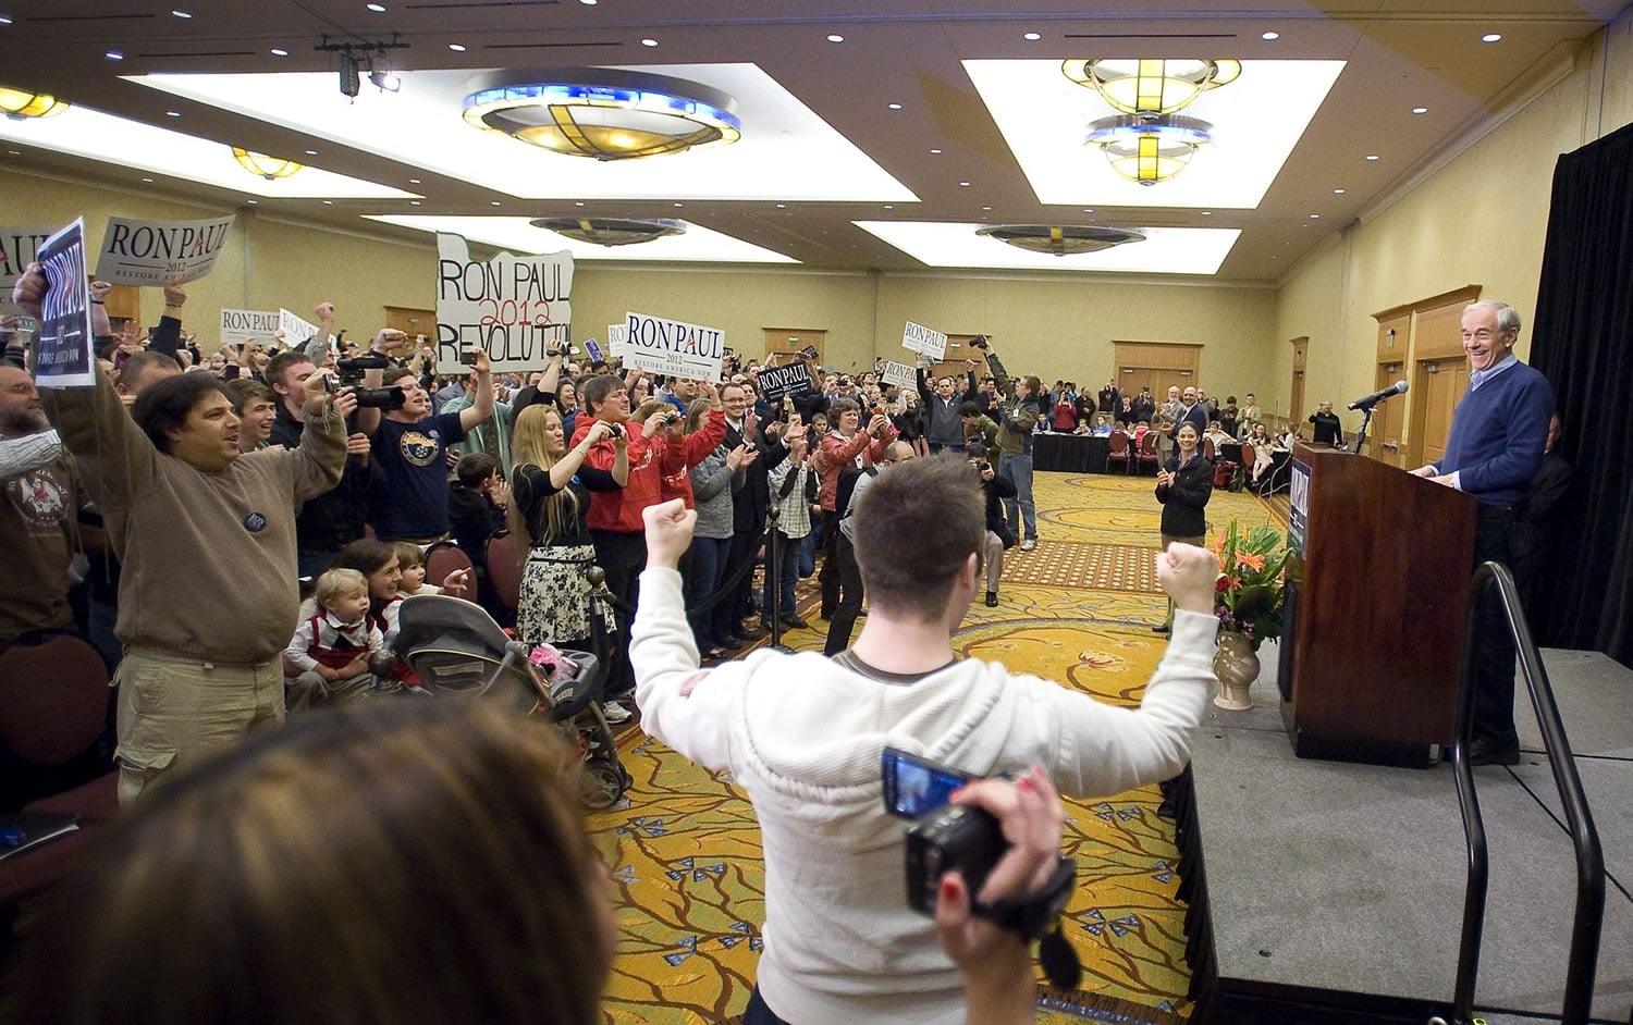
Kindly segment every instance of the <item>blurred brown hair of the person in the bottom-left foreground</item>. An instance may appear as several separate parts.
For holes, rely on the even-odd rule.
[[[415,700],[245,738],[98,837],[20,1020],[599,1022],[604,898],[558,736]]]

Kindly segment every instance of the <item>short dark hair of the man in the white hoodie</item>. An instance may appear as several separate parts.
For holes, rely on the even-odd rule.
[[[931,622],[986,539],[986,503],[962,455],[897,464],[862,490],[852,545],[867,599]]]

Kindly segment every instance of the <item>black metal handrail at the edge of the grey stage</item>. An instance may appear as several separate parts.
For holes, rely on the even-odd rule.
[[[1468,888],[1463,893],[1463,938],[1457,955],[1457,986],[1452,991],[1452,1012],[1457,1025],[1473,1022],[1475,981],[1479,974],[1479,947],[1486,927],[1486,883],[1489,881],[1489,855],[1486,828],[1479,816],[1479,796],[1475,793],[1475,775],[1468,764],[1473,734],[1475,707],[1475,646],[1479,643],[1479,617],[1496,589],[1507,619],[1509,635],[1519,653],[1520,672],[1530,692],[1532,708],[1542,728],[1543,748],[1553,769],[1553,785],[1560,792],[1571,845],[1576,849],[1576,916],[1571,922],[1571,956],[1564,973],[1563,1025],[1586,1025],[1594,1001],[1594,974],[1599,966],[1599,937],[1605,917],[1605,859],[1599,847],[1594,816],[1587,810],[1582,780],[1576,772],[1576,759],[1560,721],[1560,707],[1553,700],[1553,687],[1543,671],[1542,656],[1520,612],[1514,575],[1502,563],[1481,563],[1475,570],[1475,583],[1468,596],[1468,633],[1463,641],[1462,679],[1457,695],[1457,741],[1452,744],[1452,770],[1457,779],[1457,800],[1463,813],[1463,834],[1468,841]]]

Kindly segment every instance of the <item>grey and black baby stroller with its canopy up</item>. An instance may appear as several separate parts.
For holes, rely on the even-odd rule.
[[[395,650],[433,697],[503,702],[516,715],[555,723],[583,757],[578,800],[588,808],[611,808],[629,790],[601,715],[604,659],[563,651],[578,669],[550,682],[529,661],[532,645],[511,640],[482,606],[441,594],[403,599]]]

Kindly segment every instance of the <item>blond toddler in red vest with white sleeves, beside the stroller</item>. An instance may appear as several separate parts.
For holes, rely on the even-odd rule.
[[[369,622],[369,581],[356,570],[328,570],[317,578],[317,612],[296,627],[284,648],[284,682],[292,712],[345,703],[374,686],[369,656],[385,651],[385,638]]]

